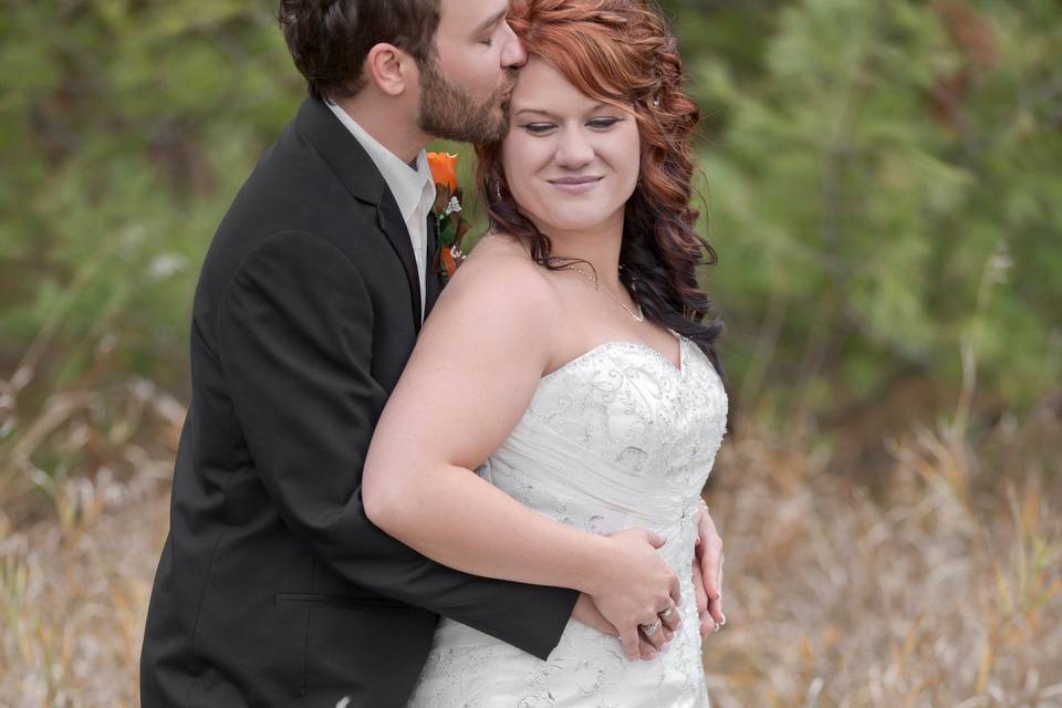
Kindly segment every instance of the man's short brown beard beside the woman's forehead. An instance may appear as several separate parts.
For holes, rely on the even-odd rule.
[[[420,70],[420,115],[417,124],[428,135],[458,143],[497,143],[509,133],[509,106],[501,105],[501,115],[494,108],[508,103],[514,75],[483,103],[476,101],[442,77],[434,61]]]

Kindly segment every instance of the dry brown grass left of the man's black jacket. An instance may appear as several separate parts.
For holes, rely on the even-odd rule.
[[[0,409],[0,708],[134,705],[184,410],[143,379],[84,383]]]

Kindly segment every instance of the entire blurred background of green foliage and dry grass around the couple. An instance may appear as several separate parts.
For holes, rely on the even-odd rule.
[[[727,324],[714,705],[1062,706],[1062,4],[662,4]],[[199,264],[303,96],[274,10],[3,3],[0,706],[136,705]]]

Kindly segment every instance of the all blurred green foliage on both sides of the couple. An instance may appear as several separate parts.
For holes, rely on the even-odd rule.
[[[663,4],[705,116],[705,283],[736,400],[936,415],[964,352],[986,406],[1056,395],[1062,7]],[[303,95],[274,9],[7,4],[0,412],[131,374],[187,391],[198,266]]]

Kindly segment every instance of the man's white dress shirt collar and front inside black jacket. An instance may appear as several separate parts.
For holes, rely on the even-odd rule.
[[[435,204],[435,180],[431,178],[431,168],[428,167],[428,156],[420,150],[417,155],[417,168],[414,169],[366,133],[365,128],[355,123],[346,111],[333,103],[327,105],[340,123],[346,126],[346,129],[373,158],[376,169],[384,176],[384,181],[387,183],[391,194],[398,204],[398,211],[406,222],[409,240],[413,241],[413,254],[417,260],[417,273],[420,275],[420,322],[423,324],[427,295],[425,292],[428,260],[427,222],[431,205]]]

